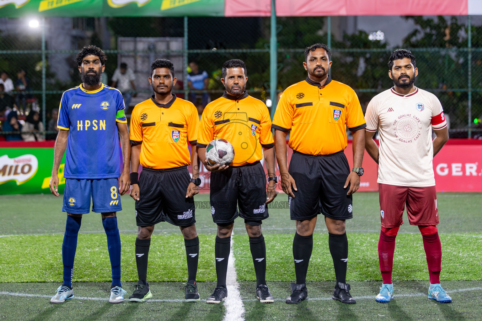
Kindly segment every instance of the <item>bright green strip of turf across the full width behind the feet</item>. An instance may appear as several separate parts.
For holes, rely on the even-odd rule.
[[[295,271],[293,235],[267,234],[267,280],[292,281]],[[335,280],[326,233],[314,234],[308,281]],[[0,282],[56,282],[62,280],[61,234],[18,235],[0,238]],[[482,280],[481,234],[442,234],[442,280]],[[137,281],[134,257],[135,235],[121,235],[123,281]],[[381,280],[376,233],[348,233],[348,280]],[[253,259],[246,235],[233,236],[238,280],[254,281]],[[215,281],[214,235],[200,235],[198,281]],[[419,234],[397,236],[394,280],[428,280],[427,262]],[[186,281],[186,250],[181,235],[153,235],[149,250],[147,280]],[[105,282],[111,279],[106,236],[79,236],[74,282]]]

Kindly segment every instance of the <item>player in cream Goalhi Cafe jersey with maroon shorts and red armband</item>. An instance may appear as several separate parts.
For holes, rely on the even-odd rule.
[[[432,167],[433,156],[448,140],[447,122],[437,97],[414,86],[418,70],[412,52],[393,51],[388,67],[394,86],[376,95],[365,114],[365,148],[379,166],[380,183],[378,260],[383,284],[375,300],[386,303],[393,298],[395,237],[403,224],[406,204],[410,224],[422,233],[430,276],[428,298],[452,302],[440,285],[442,244],[436,227],[439,212]],[[436,135],[433,141],[432,128]],[[379,148],[373,140],[376,130]]]

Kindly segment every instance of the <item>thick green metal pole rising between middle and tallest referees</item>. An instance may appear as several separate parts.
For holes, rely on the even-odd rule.
[[[276,37],[276,0],[271,0],[271,38],[269,40],[269,97],[271,98],[271,119],[278,104],[278,40]]]

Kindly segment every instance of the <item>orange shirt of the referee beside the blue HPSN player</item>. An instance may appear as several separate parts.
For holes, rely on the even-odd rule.
[[[161,104],[154,95],[135,105],[131,115],[131,144],[142,144],[143,167],[166,169],[191,164],[187,144],[196,144],[199,116],[194,104],[173,99]]]

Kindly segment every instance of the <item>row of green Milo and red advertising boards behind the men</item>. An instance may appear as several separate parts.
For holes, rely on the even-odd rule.
[[[49,182],[54,159],[54,141],[40,143],[17,142],[23,146],[13,148],[13,142],[0,143],[0,194],[50,193]],[[469,144],[470,143],[470,144]],[[36,144],[40,148],[34,148]],[[288,165],[293,151],[287,147]],[[352,144],[345,149],[348,164],[353,167]],[[65,186],[65,158],[59,168],[59,193]],[[261,163],[265,167],[264,160]],[[188,167],[191,172],[190,166]],[[360,180],[360,192],[378,191],[378,166],[366,153],[363,156],[364,174]],[[139,168],[139,172],[142,167]],[[433,160],[437,192],[482,192],[482,143],[481,141],[450,140]],[[282,191],[280,170],[277,190]],[[201,165],[200,193],[209,193],[211,173]]]

